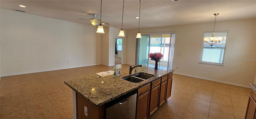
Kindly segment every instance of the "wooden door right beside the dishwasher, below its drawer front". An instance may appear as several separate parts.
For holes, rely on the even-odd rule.
[[[147,91],[143,95],[139,96],[137,99],[137,113],[136,119],[147,119],[148,117],[148,107],[149,107],[149,93]]]

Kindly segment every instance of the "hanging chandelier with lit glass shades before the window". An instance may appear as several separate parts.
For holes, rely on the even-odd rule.
[[[219,43],[222,40],[222,37],[214,37],[214,28],[215,28],[215,23],[216,23],[216,17],[219,15],[219,13],[215,13],[215,21],[214,21],[214,27],[213,27],[213,32],[212,32],[212,37],[204,37],[204,44],[210,44],[212,47],[214,44]]]

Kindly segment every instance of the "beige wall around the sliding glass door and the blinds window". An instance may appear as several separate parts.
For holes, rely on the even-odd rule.
[[[175,73],[220,81],[240,86],[254,82],[256,61],[256,19],[216,22],[216,31],[229,30],[224,66],[198,63],[201,58],[204,32],[212,31],[214,23],[202,23],[158,28],[142,28],[140,32],[176,32],[173,67]],[[128,30],[126,63],[135,62],[136,33]],[[178,56],[181,53],[182,56]]]

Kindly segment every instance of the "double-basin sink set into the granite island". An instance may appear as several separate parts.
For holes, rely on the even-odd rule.
[[[133,83],[138,83],[138,82],[144,81],[146,79],[149,79],[153,76],[154,75],[149,74],[149,73],[140,72],[140,73],[135,73],[133,75],[126,76],[126,77],[122,77],[122,79],[133,82]]]

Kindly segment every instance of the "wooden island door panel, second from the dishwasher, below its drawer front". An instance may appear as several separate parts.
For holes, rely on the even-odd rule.
[[[158,109],[159,93],[160,93],[160,85],[151,89],[149,115],[152,115]]]

